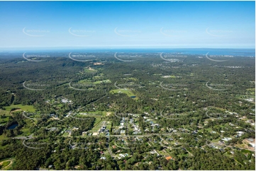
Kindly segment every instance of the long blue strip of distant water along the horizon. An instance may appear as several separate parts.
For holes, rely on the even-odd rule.
[[[0,52],[1,58],[22,57],[25,51],[16,50],[13,52]],[[255,49],[217,49],[217,48],[134,48],[134,49],[55,49],[55,50],[28,50],[26,52],[48,54],[50,57],[67,57],[70,52],[73,53],[171,53],[171,54],[192,54],[192,55],[232,55],[234,57],[255,57]]]

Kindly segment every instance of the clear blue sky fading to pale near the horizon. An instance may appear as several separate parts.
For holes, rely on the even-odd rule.
[[[255,1],[0,1],[0,48],[255,48]]]

